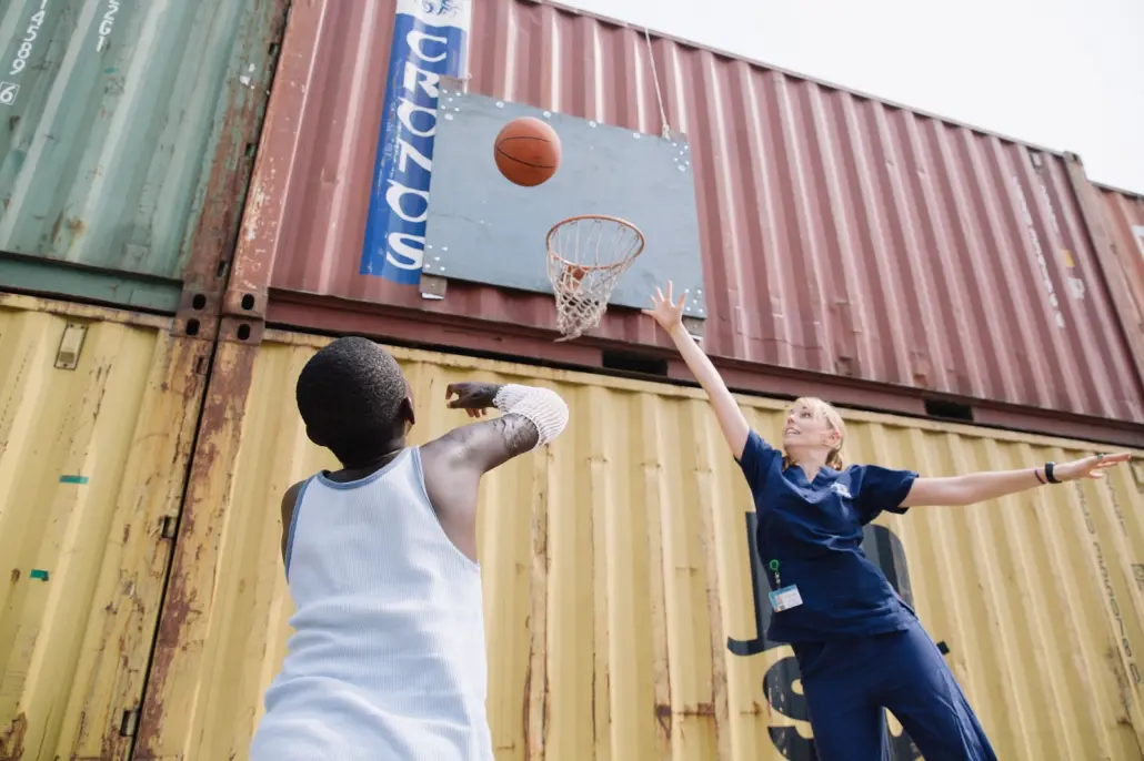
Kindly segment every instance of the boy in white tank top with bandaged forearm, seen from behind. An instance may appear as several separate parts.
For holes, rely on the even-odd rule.
[[[252,761],[491,761],[477,489],[557,436],[567,407],[547,388],[452,384],[451,408],[502,415],[407,447],[408,383],[366,338],[318,352],[296,395],[343,467],[283,497],[294,635]]]

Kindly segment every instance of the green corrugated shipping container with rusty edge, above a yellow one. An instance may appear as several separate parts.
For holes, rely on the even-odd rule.
[[[216,305],[288,6],[2,3],[0,286]]]

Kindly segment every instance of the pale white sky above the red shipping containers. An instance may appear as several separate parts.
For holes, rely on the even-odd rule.
[[[1071,151],[1144,193],[1144,0],[562,2]]]

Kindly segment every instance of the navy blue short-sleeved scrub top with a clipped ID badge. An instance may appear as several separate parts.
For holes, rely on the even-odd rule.
[[[917,473],[877,465],[824,467],[812,481],[782,468],[782,452],[754,431],[739,460],[758,516],[758,552],[771,590],[772,560],[782,587],[799,586],[802,604],[771,614],[772,642],[820,642],[906,628],[914,612],[861,550],[863,526],[901,502]],[[763,601],[763,604],[770,604]]]

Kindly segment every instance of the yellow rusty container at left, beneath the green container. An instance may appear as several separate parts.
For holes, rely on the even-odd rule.
[[[0,295],[0,759],[126,759],[210,345]]]

